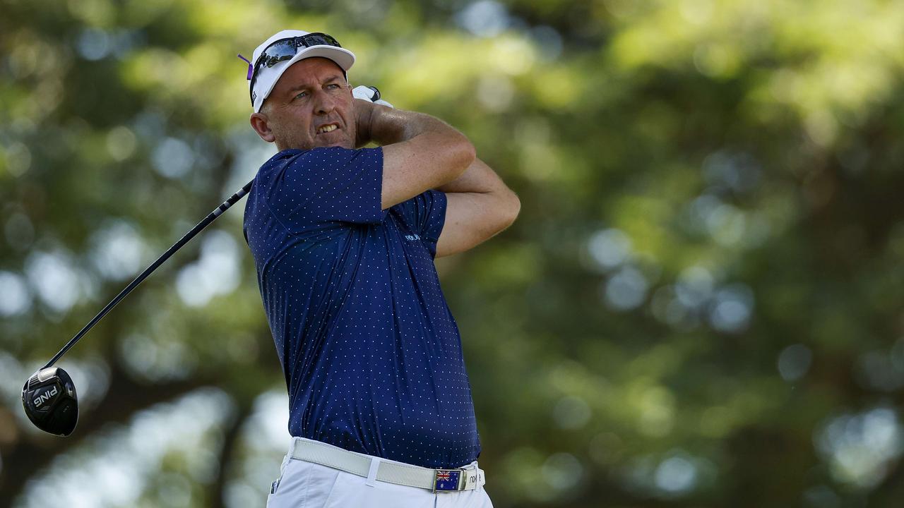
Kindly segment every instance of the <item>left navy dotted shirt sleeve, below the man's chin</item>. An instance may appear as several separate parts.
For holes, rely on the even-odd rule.
[[[267,201],[290,230],[376,224],[386,215],[381,210],[382,148],[315,148],[289,152],[275,162]]]

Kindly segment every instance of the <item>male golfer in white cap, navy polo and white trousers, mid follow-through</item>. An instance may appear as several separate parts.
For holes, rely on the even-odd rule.
[[[325,33],[284,30],[250,65],[251,127],[279,153],[244,233],[293,436],[268,506],[490,507],[433,259],[504,230],[520,203],[455,128],[354,99],[353,63]]]

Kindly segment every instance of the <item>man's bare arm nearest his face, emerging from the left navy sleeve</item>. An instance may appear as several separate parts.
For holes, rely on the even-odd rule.
[[[474,162],[467,137],[438,118],[355,100],[357,144],[383,147],[381,208],[460,177]]]

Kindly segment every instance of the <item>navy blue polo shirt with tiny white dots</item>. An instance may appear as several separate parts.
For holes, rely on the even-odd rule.
[[[480,453],[455,319],[433,264],[446,194],[381,210],[381,148],[285,150],[244,233],[292,436],[425,467]]]

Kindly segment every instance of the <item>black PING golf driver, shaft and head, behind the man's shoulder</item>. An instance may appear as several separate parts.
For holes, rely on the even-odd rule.
[[[75,343],[79,342],[79,339],[84,334],[87,334],[91,327],[97,325],[110,309],[141,284],[151,272],[164,264],[166,259],[169,259],[176,250],[182,249],[189,240],[192,240],[196,234],[210,225],[222,212],[229,210],[233,204],[239,202],[245,194],[249,193],[252,183],[254,183],[253,180],[242,187],[239,192],[232,194],[228,200],[222,202],[207,217],[198,222],[192,230],[185,233],[179,241],[173,244],[173,247],[167,249],[162,256],[145,268],[145,271],[141,272],[135,280],[120,291],[98,315],[95,315],[89,321],[88,325],[85,325],[78,334],[75,334],[71,341],[63,346],[60,353],[56,353],[50,362],[47,362],[38,372],[34,372],[32,377],[28,378],[28,381],[25,381],[25,385],[22,388],[22,404],[25,408],[25,414],[28,415],[28,419],[32,420],[35,427],[57,436],[69,436],[72,433],[76,423],[79,421],[79,399],[75,393],[75,384],[72,382],[69,373],[63,371],[60,367],[52,367],[53,363],[60,360],[61,356],[69,351]]]

